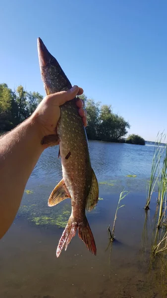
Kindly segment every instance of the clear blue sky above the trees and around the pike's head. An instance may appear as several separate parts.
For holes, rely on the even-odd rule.
[[[40,36],[72,84],[129,133],[167,132],[167,0],[0,0],[0,82],[45,95]]]

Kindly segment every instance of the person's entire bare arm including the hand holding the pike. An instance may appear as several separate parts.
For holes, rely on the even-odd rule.
[[[36,111],[14,130],[0,138],[0,238],[12,224],[33,168],[47,145],[46,135],[56,135],[59,106],[83,93],[74,86],[68,91],[46,96]],[[77,101],[79,114],[86,126],[82,101]]]

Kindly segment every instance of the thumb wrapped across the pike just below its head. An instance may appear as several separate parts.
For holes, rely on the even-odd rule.
[[[60,106],[64,104],[66,101],[69,101],[75,98],[75,96],[78,94],[78,91],[79,91],[79,87],[74,85],[71,89],[67,91],[60,91],[55,94],[51,94],[49,96],[50,96],[50,99],[52,97],[52,99],[56,100],[56,104]]]

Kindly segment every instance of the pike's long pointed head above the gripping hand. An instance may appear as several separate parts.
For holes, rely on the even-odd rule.
[[[47,94],[69,90],[72,87],[57,60],[50,54],[40,37],[38,38],[38,57]]]

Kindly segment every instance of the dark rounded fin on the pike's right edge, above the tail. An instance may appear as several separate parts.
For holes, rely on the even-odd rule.
[[[86,210],[92,211],[92,209],[98,203],[98,199],[99,199],[99,185],[98,185],[98,181],[94,173],[94,170],[92,169],[92,183],[90,186],[89,195],[86,200]]]

